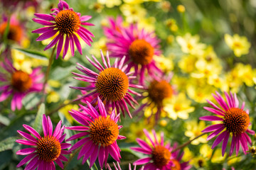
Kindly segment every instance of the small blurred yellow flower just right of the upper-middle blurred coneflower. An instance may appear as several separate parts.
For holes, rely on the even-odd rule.
[[[170,58],[164,57],[164,55],[154,56],[154,60],[156,61],[157,67],[166,73],[174,69],[174,62]]]

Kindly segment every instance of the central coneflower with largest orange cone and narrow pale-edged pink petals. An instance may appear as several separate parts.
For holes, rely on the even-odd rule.
[[[122,60],[117,64],[117,60],[114,62],[114,66],[110,65],[110,57],[107,52],[107,62],[105,60],[105,57],[101,51],[101,57],[104,66],[100,64],[100,62],[97,61],[97,59],[92,55],[92,59],[95,61],[93,62],[90,60],[89,57],[86,56],[87,60],[98,69],[99,72],[93,72],[90,69],[87,69],[86,67],[82,66],[81,64],[78,64],[79,67],[77,67],[80,72],[86,74],[73,74],[78,77],[74,77],[75,79],[78,79],[80,81],[86,81],[90,82],[91,85],[87,87],[71,87],[73,89],[78,89],[81,91],[92,91],[88,93],[87,96],[92,96],[94,94],[97,94],[97,96],[100,96],[102,101],[105,103],[105,106],[108,110],[108,108],[116,108],[117,113],[119,113],[119,110],[121,109],[123,115],[124,111],[126,111],[130,118],[132,118],[131,113],[129,113],[129,109],[127,107],[127,103],[129,106],[132,105],[131,101],[138,104],[137,101],[129,94],[135,94],[137,96],[140,96],[140,94],[137,94],[137,92],[132,91],[129,89],[129,87],[133,88],[142,88],[142,86],[135,85],[135,84],[129,84],[130,79],[134,79],[136,77],[130,76],[133,74],[133,72],[126,72],[127,65],[124,66],[124,60],[125,57],[122,58]],[[95,98],[91,104],[94,104],[97,102],[97,98]]]

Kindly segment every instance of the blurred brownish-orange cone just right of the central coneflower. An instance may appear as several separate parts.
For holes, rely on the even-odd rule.
[[[169,98],[172,96],[173,89],[165,80],[154,80],[149,85],[148,92],[149,98],[151,98],[151,100],[156,103],[157,106],[162,106],[164,98]]]

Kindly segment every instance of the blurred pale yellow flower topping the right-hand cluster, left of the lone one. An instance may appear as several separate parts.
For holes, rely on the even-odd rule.
[[[203,55],[203,50],[206,45],[199,42],[199,35],[192,36],[190,33],[186,33],[183,37],[177,36],[176,40],[181,45],[182,52],[191,55]]]

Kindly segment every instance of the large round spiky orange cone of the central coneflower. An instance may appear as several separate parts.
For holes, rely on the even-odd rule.
[[[129,79],[121,69],[111,67],[100,72],[95,86],[107,101],[120,101],[127,93]]]

